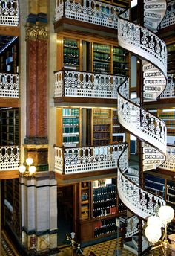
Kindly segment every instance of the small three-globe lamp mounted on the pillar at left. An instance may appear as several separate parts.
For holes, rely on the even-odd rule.
[[[36,167],[33,164],[33,159],[31,157],[26,159],[26,165],[19,166],[19,173],[21,176],[29,177],[30,179],[35,176]]]

